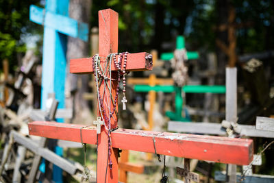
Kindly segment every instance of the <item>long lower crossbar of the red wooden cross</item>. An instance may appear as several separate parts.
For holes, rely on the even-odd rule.
[[[81,142],[82,139],[82,143],[97,143],[95,127],[47,121],[34,121],[28,125],[30,135],[74,142]],[[128,129],[115,130],[111,136],[112,147],[119,149],[147,153],[155,153],[156,149],[157,154],[167,156],[239,165],[249,164],[253,159],[253,141],[249,139]]]

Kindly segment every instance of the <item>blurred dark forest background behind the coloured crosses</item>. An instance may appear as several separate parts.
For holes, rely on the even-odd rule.
[[[45,0],[0,0],[0,60],[2,61],[0,81],[3,84],[0,87],[1,107],[8,108],[17,115],[18,112],[24,113],[22,108],[26,107],[22,106],[22,103],[27,103],[23,105],[32,109],[41,107],[44,26],[29,20],[29,6],[37,5],[45,8],[46,3]],[[71,0],[69,16],[88,23],[90,31],[87,41],[70,36],[67,38],[64,93],[66,108],[73,108],[73,117],[66,122],[90,125],[97,117],[92,76],[69,73],[69,60],[92,57],[97,53],[98,11],[106,8],[119,13],[119,52],[155,51],[153,74],[158,78],[172,77],[174,71],[172,64],[162,57],[162,53],[175,51],[178,36],[184,36],[186,50],[199,53],[198,58],[186,62],[188,84],[224,86],[225,68],[236,67],[237,122],[255,125],[257,116],[274,117],[274,1]],[[34,60],[35,64],[26,73],[31,60]],[[24,78],[28,79],[22,79],[21,86],[17,87],[16,81],[21,78],[22,73],[27,75]],[[148,78],[149,75],[151,73],[145,71],[134,72],[127,78]],[[5,89],[7,84],[20,94],[15,94],[17,98],[12,98],[12,101],[7,97],[9,95],[8,90]],[[135,84],[130,83],[127,85],[127,99],[130,104],[126,111],[120,111],[119,124],[121,127],[144,129],[149,125],[148,115],[151,110],[149,95],[134,90],[134,86]],[[156,96],[153,110],[154,127],[150,130],[166,131],[170,118],[165,112],[175,110],[175,93],[159,92]],[[190,121],[221,123],[225,118],[225,95],[183,92],[182,98],[184,99],[184,104],[181,104],[184,106],[182,117]],[[210,110],[211,113],[199,112],[206,110]],[[3,114],[2,121],[6,118],[7,114]],[[20,128],[21,126],[16,126],[17,130]],[[2,130],[2,133],[4,131]],[[273,141],[273,138],[252,139],[255,142],[255,154],[260,153],[267,143]],[[5,136],[2,136],[1,143],[5,142]],[[96,150],[93,146],[88,148],[91,152]],[[83,157],[79,158],[80,154],[82,150],[79,148],[64,152],[64,156],[84,163]],[[274,175],[273,154],[273,147],[264,151],[262,166],[253,168],[253,173]],[[94,153],[88,156],[90,162],[96,158]],[[131,162],[145,164],[146,158],[146,154],[136,152],[129,154]],[[145,169],[145,175],[129,173],[128,181],[159,181],[161,170],[159,166],[155,168],[151,164],[146,164],[149,169]],[[90,166],[94,164],[90,163]],[[214,182],[215,169],[225,170],[220,164],[213,166],[200,163],[197,167],[195,171],[206,177],[204,182]],[[158,174],[155,173],[155,169],[158,170]],[[209,173],[206,174],[203,169],[210,171],[208,170]],[[171,171],[170,175],[173,174],[174,172]]]

